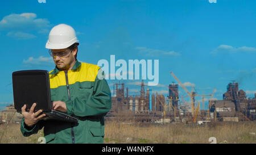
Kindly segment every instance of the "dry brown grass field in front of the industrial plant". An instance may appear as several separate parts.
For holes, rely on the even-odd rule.
[[[215,123],[205,125],[184,123],[105,123],[104,143],[175,143],[209,144],[209,137],[217,143],[256,143],[256,122]],[[43,130],[23,137],[19,124],[0,125],[0,143],[40,143]]]

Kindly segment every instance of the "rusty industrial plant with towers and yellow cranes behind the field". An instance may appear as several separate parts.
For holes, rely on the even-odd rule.
[[[222,100],[213,99],[212,94],[197,94],[189,92],[179,79],[172,73],[179,83],[171,83],[168,86],[168,96],[165,97],[158,92],[152,93],[151,89],[145,91],[142,80],[141,91],[138,95],[129,95],[129,87],[125,83],[114,83],[112,95],[112,110],[106,115],[106,120],[120,120],[151,123],[199,123],[207,122],[240,122],[253,121],[256,118],[256,94],[253,99],[246,98],[246,93],[239,90],[238,83],[228,83],[226,93]],[[186,102],[184,97],[179,97],[180,87],[190,97]],[[201,97],[201,103],[195,99]],[[205,97],[209,97],[208,106],[205,106]],[[203,109],[200,109],[203,104]],[[207,110],[205,110],[207,109]]]

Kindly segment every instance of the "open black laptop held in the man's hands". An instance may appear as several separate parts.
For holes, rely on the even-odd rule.
[[[36,103],[35,112],[43,110],[48,119],[56,119],[65,122],[78,122],[63,112],[52,110],[51,91],[49,86],[49,74],[47,70],[20,70],[13,72],[13,96],[14,108],[21,113],[24,104],[26,111],[30,110],[33,103]]]

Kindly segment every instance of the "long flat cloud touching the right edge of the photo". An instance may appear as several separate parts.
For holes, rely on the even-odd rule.
[[[230,45],[219,45],[216,49],[214,49],[211,53],[213,55],[216,55],[217,53],[241,53],[241,52],[247,52],[247,53],[254,53],[256,52],[255,47],[232,47]]]

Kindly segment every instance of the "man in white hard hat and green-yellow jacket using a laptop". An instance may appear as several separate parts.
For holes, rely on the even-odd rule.
[[[111,92],[106,80],[98,76],[102,74],[100,67],[77,60],[78,45],[75,30],[67,24],[53,27],[46,43],[56,65],[49,72],[53,110],[65,112],[79,122],[42,120],[45,114],[40,115],[41,110],[26,112],[24,105],[20,127],[23,136],[44,127],[46,143],[103,143],[104,116],[112,106]]]

